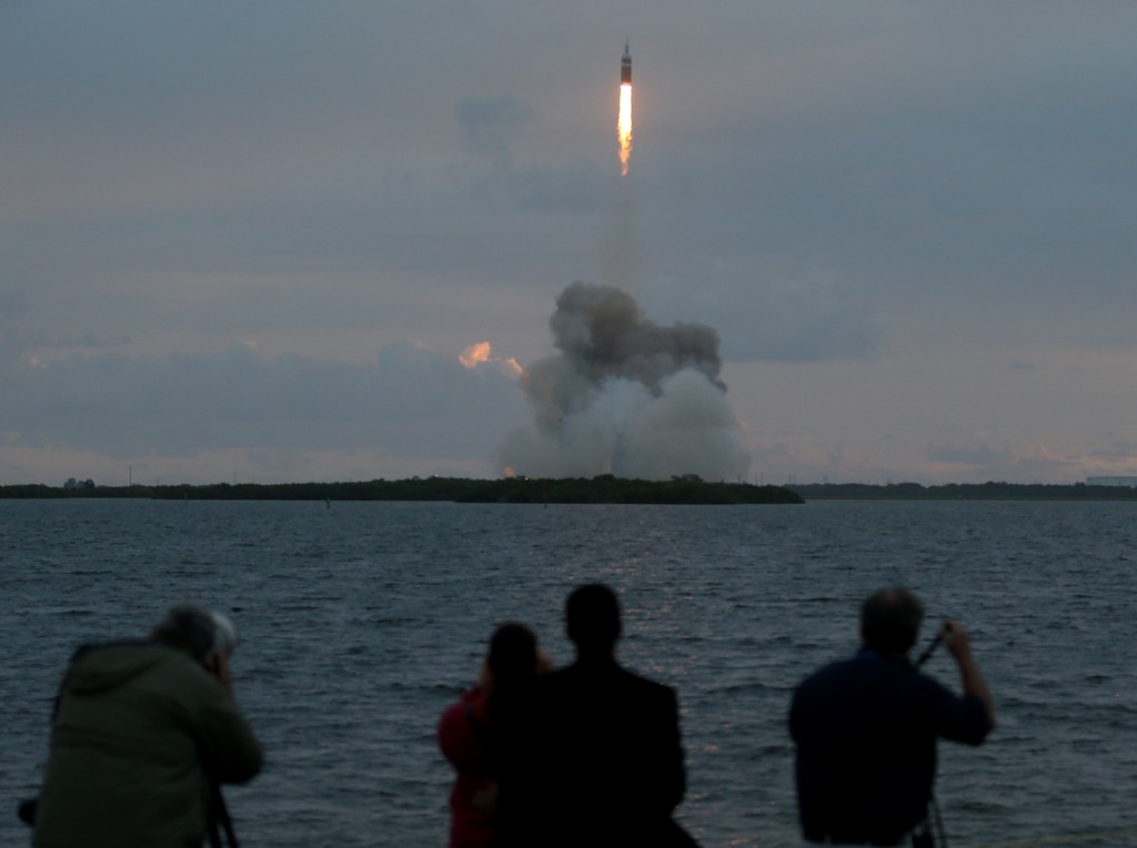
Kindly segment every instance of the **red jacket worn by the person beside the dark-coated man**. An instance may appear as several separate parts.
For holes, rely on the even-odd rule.
[[[450,792],[450,848],[488,848],[490,815],[474,806],[474,795],[493,789],[484,746],[489,696],[476,687],[447,707],[438,723],[438,746],[457,779]],[[476,726],[475,726],[476,725]]]

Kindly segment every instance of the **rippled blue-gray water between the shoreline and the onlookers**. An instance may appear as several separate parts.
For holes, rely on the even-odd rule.
[[[1132,504],[147,500],[0,500],[0,845],[26,842],[16,801],[72,650],[191,600],[235,620],[267,750],[226,791],[244,846],[445,846],[438,716],[496,623],[570,660],[561,608],[587,581],[621,596],[622,662],[679,691],[679,817],[704,846],[797,848],[790,693],[855,650],[861,599],[891,583],[968,626],[997,704],[986,746],[940,746],[953,848],[1137,845]],[[958,687],[946,652],[926,670]]]

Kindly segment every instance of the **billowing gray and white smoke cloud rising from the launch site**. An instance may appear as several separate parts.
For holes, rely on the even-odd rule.
[[[620,289],[575,282],[549,319],[559,352],[521,377],[533,423],[498,450],[532,477],[736,480],[749,459],[719,380],[719,334],[659,326]]]

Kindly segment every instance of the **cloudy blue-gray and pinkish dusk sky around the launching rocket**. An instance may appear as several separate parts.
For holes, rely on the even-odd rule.
[[[550,373],[656,440],[613,471],[688,426],[674,385],[731,459],[664,473],[1137,474],[1134,32],[1128,0],[0,0],[0,484],[497,476],[564,437]],[[717,350],[584,380],[574,283]]]

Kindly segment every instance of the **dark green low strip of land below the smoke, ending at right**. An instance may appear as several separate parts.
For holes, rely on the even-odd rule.
[[[624,480],[605,474],[583,479],[412,477],[339,483],[210,483],[206,485],[56,488],[42,484],[2,485],[0,499],[115,499],[151,500],[404,500],[458,504],[675,504],[727,506],[738,504],[803,504],[785,487],[749,483],[712,483],[694,474],[667,481]]]

